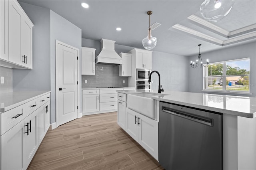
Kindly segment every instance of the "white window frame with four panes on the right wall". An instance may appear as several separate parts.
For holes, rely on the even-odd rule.
[[[212,64],[219,64],[219,63],[223,63],[223,73],[222,75],[213,75],[213,76],[206,76],[206,73],[208,73],[208,71],[206,71],[206,69],[208,70],[208,67],[204,67],[203,70],[203,90],[202,91],[208,91],[208,92],[221,92],[221,93],[242,93],[242,94],[252,94],[250,93],[250,72],[249,75],[226,75],[226,63],[228,62],[232,62],[232,61],[242,61],[242,60],[249,60],[249,68],[250,68],[250,58],[241,58],[241,59],[233,59],[233,60],[227,60],[227,61],[219,61],[219,62],[214,62],[214,63],[209,63],[209,66]],[[249,70],[250,71],[250,70]],[[236,77],[236,76],[248,76],[249,79],[249,90],[248,91],[236,91],[236,90],[230,90],[230,89],[226,89],[226,77]],[[222,90],[221,89],[207,89],[208,87],[208,80],[207,78],[218,78],[218,77],[222,77]]]

